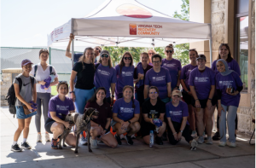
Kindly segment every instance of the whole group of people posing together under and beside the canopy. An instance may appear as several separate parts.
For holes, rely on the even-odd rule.
[[[66,56],[71,58],[70,35]],[[226,144],[226,112],[228,111],[228,129],[230,147],[236,147],[236,109],[240,101],[242,83],[240,68],[231,57],[228,44],[222,43],[218,49],[218,59],[212,68],[206,67],[205,55],[198,55],[196,49],[189,49],[190,63],[184,67],[172,57],[172,44],[165,48],[166,58],[154,49],[140,55],[141,61],[133,66],[133,57],[126,51],[119,64],[112,65],[111,54],[101,47],[86,48],[82,55],[74,55],[75,64],[71,72],[70,86],[59,82],[55,68],[46,63],[49,52],[41,49],[40,63],[32,67],[32,62],[21,62],[23,72],[19,75],[22,83],[15,78],[16,113],[19,128],[15,132],[13,151],[21,151],[17,140],[23,130],[21,147],[31,148],[26,138],[32,115],[36,115],[38,142],[42,142],[40,130],[41,101],[45,119],[45,141],[50,141],[51,148],[57,149],[58,136],[64,128],[71,128],[64,121],[68,113],[84,113],[88,107],[99,111],[98,117],[91,120],[90,140],[81,133],[79,143],[90,141],[91,148],[97,148],[101,141],[111,148],[121,145],[121,136],[125,134],[127,144],[133,145],[132,136],[143,137],[150,143],[150,130],[155,131],[155,143],[163,144],[163,138],[173,145],[185,138],[190,149],[195,150],[198,143],[203,143],[203,134],[207,134],[207,144],[212,144],[212,115],[218,107],[219,146]],[[97,61],[96,61],[97,60]],[[41,89],[44,79],[49,75],[53,80],[49,88]],[[33,79],[33,80],[31,80]],[[33,84],[29,84],[32,83]],[[57,84],[58,95],[50,98],[50,86]],[[180,91],[180,85],[182,91]],[[70,94],[68,97],[67,94]],[[115,101],[114,101],[115,97]],[[25,115],[22,106],[32,109],[30,101],[38,104],[38,109]],[[113,107],[112,107],[113,106]],[[161,123],[158,127],[155,120]],[[110,133],[112,127],[114,136]],[[197,132],[198,139],[194,137]],[[217,134],[215,136],[218,136]],[[75,146],[75,135],[71,132],[66,143]]]

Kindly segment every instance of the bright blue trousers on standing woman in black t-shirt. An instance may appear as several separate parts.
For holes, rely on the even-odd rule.
[[[76,100],[74,101],[77,113],[84,113],[84,107],[86,102],[90,99],[90,97],[94,94],[95,89],[91,90],[81,90],[75,88],[74,94],[76,96]]]

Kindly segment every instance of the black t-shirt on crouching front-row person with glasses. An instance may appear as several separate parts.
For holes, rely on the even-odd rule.
[[[145,113],[148,114],[148,119],[159,119],[160,113],[166,113],[166,104],[158,98],[156,104],[153,106],[150,99],[148,99],[148,101],[143,103],[143,114]],[[142,126],[152,125],[144,120],[144,115],[142,122]]]

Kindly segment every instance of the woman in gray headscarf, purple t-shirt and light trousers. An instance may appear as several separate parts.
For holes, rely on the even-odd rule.
[[[239,75],[230,70],[225,60],[217,61],[218,74],[216,75],[216,89],[218,96],[218,116],[219,116],[219,133],[220,142],[218,146],[224,147],[226,144],[226,112],[228,111],[228,129],[230,147],[236,147],[236,111],[240,101],[240,91],[242,82]]]

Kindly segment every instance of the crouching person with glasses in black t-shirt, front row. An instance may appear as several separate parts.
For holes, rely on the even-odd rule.
[[[151,86],[148,90],[148,96],[150,99],[143,103],[143,117],[141,133],[143,140],[146,144],[150,142],[150,130],[155,130],[153,119],[160,119],[162,126],[159,127],[158,133],[155,136],[155,142],[158,145],[163,145],[161,136],[166,130],[166,123],[164,122],[164,116],[166,113],[166,104],[160,100],[159,90],[155,86]]]

